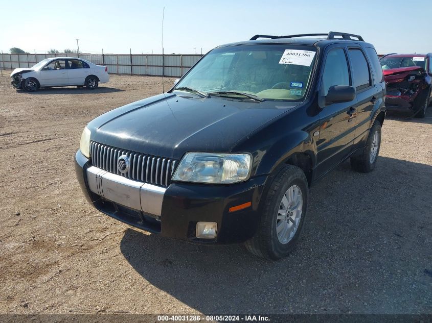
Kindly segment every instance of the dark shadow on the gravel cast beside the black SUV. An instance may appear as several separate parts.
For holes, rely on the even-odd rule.
[[[431,178],[393,158],[366,174],[343,163],[311,189],[299,244],[277,262],[135,229],[120,248],[143,288],[203,313],[431,312]]]

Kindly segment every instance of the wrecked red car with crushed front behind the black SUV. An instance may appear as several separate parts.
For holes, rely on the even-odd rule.
[[[424,118],[431,100],[432,53],[387,54],[380,59],[387,111],[408,111]]]

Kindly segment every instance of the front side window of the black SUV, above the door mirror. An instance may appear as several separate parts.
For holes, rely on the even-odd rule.
[[[327,95],[333,85],[350,85],[348,62],[343,48],[331,49],[327,54],[322,79],[324,95]]]

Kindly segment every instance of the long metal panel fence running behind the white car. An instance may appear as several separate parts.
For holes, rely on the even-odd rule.
[[[79,57],[97,65],[104,65],[108,73],[181,77],[202,55],[154,54],[0,54],[0,68],[31,67],[51,57]]]

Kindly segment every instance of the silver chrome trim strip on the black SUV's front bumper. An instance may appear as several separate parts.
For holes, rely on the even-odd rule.
[[[160,216],[166,188],[129,180],[95,166],[87,168],[90,190],[107,200]]]

